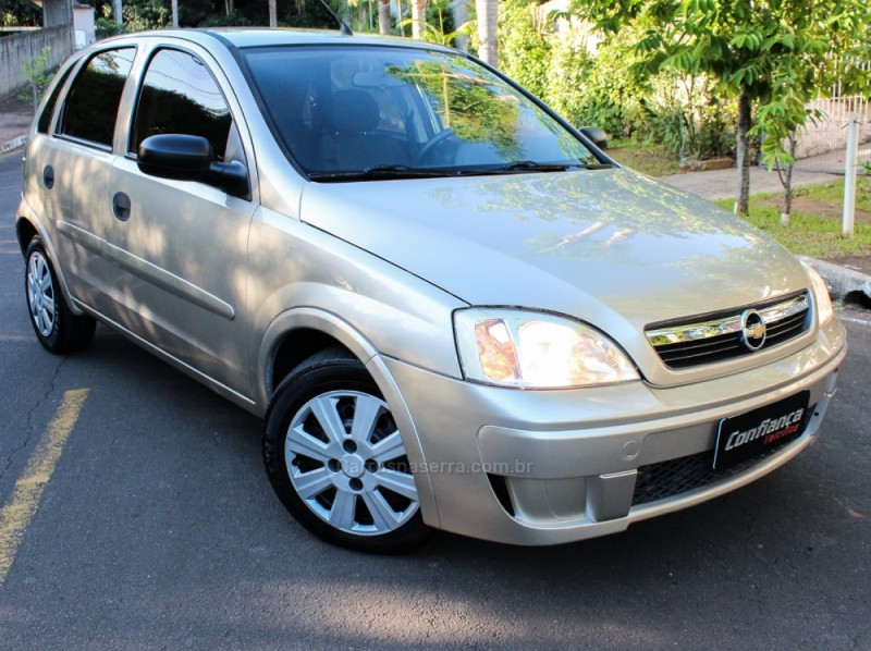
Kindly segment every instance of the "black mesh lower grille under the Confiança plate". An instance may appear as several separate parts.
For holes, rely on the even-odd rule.
[[[811,413],[813,407],[810,407]],[[736,464],[725,470],[715,470],[714,451],[700,452],[689,456],[682,456],[659,464],[650,464],[638,468],[638,476],[635,480],[635,493],[633,493],[633,506],[648,504],[666,498],[674,498],[688,491],[704,488],[715,481],[722,481],[744,472],[748,468],[764,460],[784,445],[794,441],[787,441],[783,445],[775,445],[763,453],[756,455],[747,460]]]

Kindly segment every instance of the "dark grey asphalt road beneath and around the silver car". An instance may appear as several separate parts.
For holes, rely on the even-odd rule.
[[[106,329],[69,358],[39,346],[19,176],[0,159],[0,507],[69,392],[88,393],[19,518],[0,649],[871,648],[869,312],[842,312],[851,351],[820,441],[750,487],[584,543],[439,535],[363,555],[286,515],[255,418]]]

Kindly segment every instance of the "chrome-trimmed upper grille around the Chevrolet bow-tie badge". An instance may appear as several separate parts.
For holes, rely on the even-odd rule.
[[[756,340],[746,328],[751,314],[764,323],[764,334]],[[743,309],[650,326],[646,334],[665,366],[684,369],[786,343],[810,328],[810,315],[808,295],[801,292]]]

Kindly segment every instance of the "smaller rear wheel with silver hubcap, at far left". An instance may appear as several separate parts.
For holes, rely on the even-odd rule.
[[[24,259],[24,295],[39,343],[57,354],[86,347],[94,339],[97,322],[70,310],[40,237],[30,239]]]

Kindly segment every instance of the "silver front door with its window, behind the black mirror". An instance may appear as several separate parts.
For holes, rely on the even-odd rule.
[[[221,79],[221,83],[219,83]],[[107,256],[118,267],[125,327],[234,393],[250,378],[242,314],[255,204],[199,182],[148,176],[139,144],[157,134],[206,137],[218,161],[250,165],[225,79],[203,53],[159,48],[149,57],[126,156],[111,170],[114,219]]]

